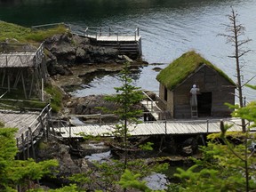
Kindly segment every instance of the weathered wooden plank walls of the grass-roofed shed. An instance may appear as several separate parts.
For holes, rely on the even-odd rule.
[[[235,87],[218,72],[204,65],[196,73],[178,85],[173,92],[168,91],[166,108],[174,118],[191,118],[190,89],[193,84],[199,85],[200,92],[212,92],[211,117],[230,116],[232,110],[225,102],[235,104]],[[164,98],[164,85],[160,85],[159,96]],[[200,117],[200,116],[199,116]]]

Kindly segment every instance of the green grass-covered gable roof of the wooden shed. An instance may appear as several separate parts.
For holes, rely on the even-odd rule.
[[[190,74],[202,65],[217,71],[220,76],[223,76],[231,84],[235,84],[220,68],[215,67],[208,60],[205,60],[200,54],[195,51],[186,52],[180,56],[180,58],[173,60],[172,63],[160,71],[156,76],[157,81],[167,89],[173,90],[176,86],[181,84]]]

